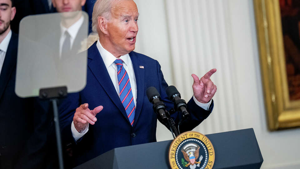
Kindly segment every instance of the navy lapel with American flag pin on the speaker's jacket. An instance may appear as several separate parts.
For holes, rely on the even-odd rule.
[[[141,61],[134,52],[129,53],[133,70],[135,74],[135,79],[137,81],[137,105],[135,110],[135,117],[133,127],[138,121],[138,117],[142,110],[143,100],[144,100],[144,90],[145,90],[145,69],[140,68],[140,66],[145,66],[144,62]]]

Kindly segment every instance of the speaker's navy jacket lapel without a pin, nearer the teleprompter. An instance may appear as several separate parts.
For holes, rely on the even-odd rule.
[[[103,87],[107,95],[113,101],[113,103],[118,107],[121,111],[125,119],[128,121],[129,125],[130,122],[127,118],[127,114],[125,111],[124,106],[122,105],[120,98],[114,88],[113,82],[110,79],[106,66],[103,62],[103,59],[99,53],[99,50],[96,46],[97,42],[95,42],[89,49],[88,49],[88,59],[91,61],[88,63],[89,69],[92,71],[100,85]]]

